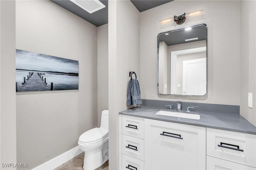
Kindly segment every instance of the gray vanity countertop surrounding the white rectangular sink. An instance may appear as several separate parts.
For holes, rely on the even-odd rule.
[[[140,105],[136,108],[121,111],[119,112],[119,114],[143,117],[146,119],[155,119],[159,121],[195,125],[200,127],[209,127],[235,132],[256,134],[256,127],[239,114],[196,111],[196,113],[200,114],[200,119],[195,120],[154,114],[159,110],[168,111],[168,109],[163,109],[162,107]],[[192,111],[190,113],[193,114]]]

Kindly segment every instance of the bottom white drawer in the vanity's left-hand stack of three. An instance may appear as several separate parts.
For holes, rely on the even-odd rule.
[[[122,170],[144,170],[144,161],[122,154]]]

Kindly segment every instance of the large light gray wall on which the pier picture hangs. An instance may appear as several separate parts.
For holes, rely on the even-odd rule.
[[[51,1],[16,1],[16,48],[79,61],[79,90],[17,93],[17,162],[31,169],[98,126],[97,28]]]

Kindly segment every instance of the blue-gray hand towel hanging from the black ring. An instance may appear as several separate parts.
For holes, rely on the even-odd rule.
[[[142,104],[140,97],[140,84],[137,79],[130,79],[127,89],[127,105]]]

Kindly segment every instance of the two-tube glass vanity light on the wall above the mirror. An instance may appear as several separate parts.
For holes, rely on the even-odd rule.
[[[164,28],[168,28],[176,25],[181,25],[185,21],[186,23],[188,23],[188,22],[203,20],[205,18],[206,16],[204,14],[204,10],[198,10],[198,11],[189,12],[189,13],[184,12],[184,14],[180,16],[174,15],[174,17],[172,18],[160,20],[159,24],[160,24],[160,29],[164,29]]]

